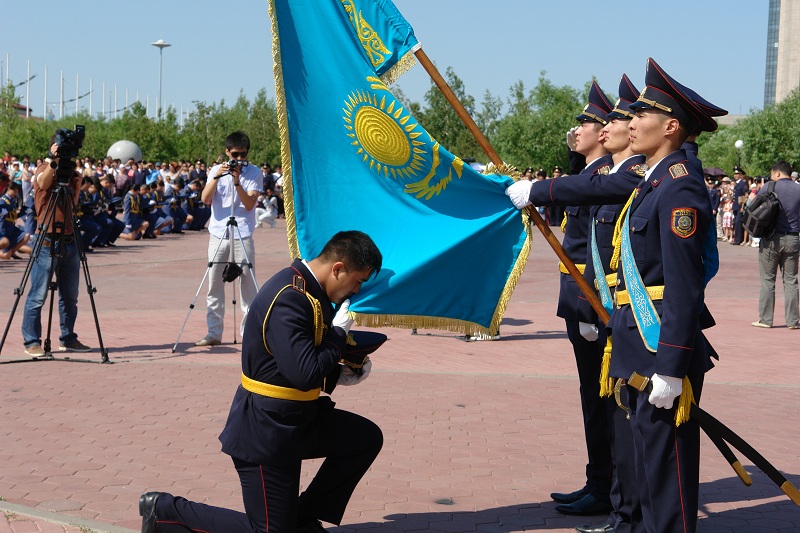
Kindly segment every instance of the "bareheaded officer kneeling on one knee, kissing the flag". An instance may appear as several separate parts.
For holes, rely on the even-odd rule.
[[[341,522],[383,435],[366,418],[335,409],[320,391],[369,373],[369,362],[355,370],[340,361],[353,322],[348,298],[381,262],[367,235],[340,232],[316,259],[295,260],[264,284],[247,315],[242,385],[220,435],[241,479],[246,514],[150,492],[139,503],[143,533],[313,533],[325,531],[319,520]],[[325,461],[298,497],[301,462],[319,457]]]

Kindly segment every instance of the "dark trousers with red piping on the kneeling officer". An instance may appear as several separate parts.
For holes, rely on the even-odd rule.
[[[156,502],[159,533],[292,533],[311,520],[340,524],[353,490],[383,446],[383,434],[370,420],[338,409],[320,416],[318,424],[322,438],[303,459],[325,460],[300,496],[302,459],[258,465],[234,458],[245,513],[162,494]]]

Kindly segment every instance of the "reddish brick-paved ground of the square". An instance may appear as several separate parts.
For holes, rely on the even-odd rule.
[[[289,262],[284,224],[256,234],[259,283]],[[242,509],[217,440],[240,376],[230,298],[223,345],[193,346],[206,331],[202,287],[172,353],[206,247],[206,232],[190,232],[90,255],[110,365],[29,361],[20,302],[0,353],[0,363],[25,361],[0,364],[0,533],[138,531],[138,497],[148,490]],[[385,444],[331,531],[561,532],[602,520],[560,515],[549,499],[582,485],[585,449],[574,358],[555,316],[557,259],[538,232],[533,248],[500,340],[381,330],[389,341],[370,378],[336,390],[338,406],[374,420]],[[722,242],[720,252],[707,295],[717,326],[707,335],[721,360],[702,405],[800,486],[800,331],[783,326],[780,285],[780,327],[750,327],[758,252]],[[24,266],[0,262],[0,326]],[[81,283],[76,331],[95,350],[74,355],[99,361]],[[701,531],[800,530],[800,508],[749,461],[740,455],[753,477],[745,487],[705,437],[702,446]],[[317,466],[304,466],[304,484]]]

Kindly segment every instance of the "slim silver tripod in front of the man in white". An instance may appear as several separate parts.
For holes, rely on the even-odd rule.
[[[223,176],[230,175],[229,172],[225,174],[221,174],[219,176],[214,177],[213,179],[219,179]],[[225,269],[222,271],[222,280],[226,283],[230,282],[233,290],[233,298],[232,298],[232,307],[233,307],[233,343],[236,344],[236,329],[238,325],[236,324],[236,279],[239,278],[239,292],[241,293],[242,290],[242,283],[245,281],[240,277],[244,273],[244,269],[242,267],[247,267],[247,272],[250,274],[250,279],[253,282],[253,286],[255,287],[256,292],[258,292],[258,283],[256,282],[256,275],[253,273],[253,263],[250,260],[250,256],[247,254],[247,248],[244,245],[244,240],[242,239],[242,232],[239,229],[239,224],[236,222],[236,216],[234,215],[234,208],[236,207],[236,189],[231,189],[231,213],[228,216],[228,220],[225,223],[225,233],[226,237],[223,239],[219,239],[217,243],[217,248],[214,250],[214,255],[211,256],[211,259],[208,261],[208,266],[206,267],[206,272],[203,274],[203,279],[200,280],[200,285],[197,287],[197,292],[194,294],[194,298],[192,299],[192,303],[189,304],[189,311],[186,313],[186,318],[183,320],[183,325],[181,326],[181,330],[178,332],[178,338],[175,339],[175,344],[172,346],[172,353],[175,353],[175,350],[178,348],[178,342],[181,340],[181,335],[183,335],[183,330],[186,327],[186,323],[189,321],[189,315],[192,314],[192,310],[194,309],[194,304],[197,302],[198,296],[200,296],[200,291],[203,288],[203,284],[206,282],[206,278],[209,277],[211,274],[211,269],[214,265],[225,265]],[[222,247],[222,243],[227,240],[228,242],[228,261],[215,261],[214,259],[217,258],[217,254],[219,253],[220,248]],[[242,253],[244,254],[244,262],[241,264],[237,263],[234,257],[234,248],[236,241],[239,241],[239,245],[242,248]],[[210,281],[209,281],[210,283]]]

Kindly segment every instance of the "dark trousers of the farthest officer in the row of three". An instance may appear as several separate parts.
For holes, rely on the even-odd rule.
[[[611,442],[609,399],[600,397],[600,366],[603,349],[580,334],[577,320],[565,320],[567,336],[575,352],[580,382],[583,431],[586,438],[586,484],[601,501],[608,501],[611,490]],[[612,400],[613,401],[613,400]]]

